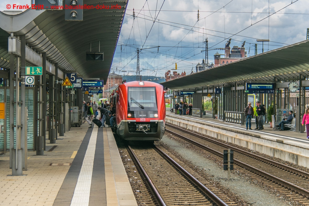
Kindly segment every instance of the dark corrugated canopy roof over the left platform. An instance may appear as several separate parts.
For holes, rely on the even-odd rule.
[[[66,21],[65,10],[0,12],[0,67],[9,68],[8,37],[25,35],[26,45],[37,53],[46,52],[47,60],[57,62],[63,72],[105,83],[127,2],[83,0],[83,5],[117,5],[113,9],[84,9],[83,21]],[[86,61],[86,52],[103,52],[104,61]]]

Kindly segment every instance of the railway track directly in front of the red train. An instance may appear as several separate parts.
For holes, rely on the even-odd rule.
[[[199,182],[156,146],[128,146],[158,205],[237,205],[211,183]],[[215,192],[212,192],[214,190]],[[216,194],[215,194],[216,193]]]

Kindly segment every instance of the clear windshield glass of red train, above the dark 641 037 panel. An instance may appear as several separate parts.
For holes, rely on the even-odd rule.
[[[141,109],[157,109],[155,87],[128,87],[128,105]]]

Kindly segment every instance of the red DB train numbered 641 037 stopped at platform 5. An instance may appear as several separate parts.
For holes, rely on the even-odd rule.
[[[119,85],[110,102],[116,103],[115,132],[128,141],[156,141],[165,132],[163,86],[134,81]]]

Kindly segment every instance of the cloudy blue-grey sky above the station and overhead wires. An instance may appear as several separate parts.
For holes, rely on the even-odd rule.
[[[0,11],[25,2],[1,0]],[[306,40],[308,17],[307,0],[129,0],[111,72],[136,75],[139,48],[141,75],[162,77],[175,63],[190,74],[205,58],[206,38],[210,63],[229,38],[231,47],[246,41],[250,57],[255,44],[262,53],[257,39],[270,40],[264,52]]]

